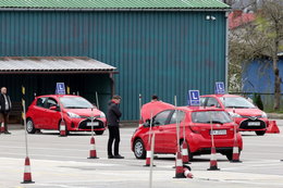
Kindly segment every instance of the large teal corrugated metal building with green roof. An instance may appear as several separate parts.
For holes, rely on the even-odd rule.
[[[219,0],[1,0],[1,58],[87,57],[118,74],[20,67],[1,72],[0,86],[21,101],[25,85],[32,101],[64,82],[91,102],[97,91],[102,110],[119,93],[124,120],[138,118],[139,93],[143,103],[156,93],[185,105],[189,89],[211,93],[226,82],[229,10]]]

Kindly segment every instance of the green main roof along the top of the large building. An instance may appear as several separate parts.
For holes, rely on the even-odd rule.
[[[220,0],[1,0],[0,9],[230,9]]]

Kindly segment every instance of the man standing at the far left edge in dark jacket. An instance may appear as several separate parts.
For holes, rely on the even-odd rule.
[[[7,95],[7,88],[1,88],[0,93],[0,122],[4,123],[4,134],[11,134],[8,131],[9,113],[12,109],[10,97]]]

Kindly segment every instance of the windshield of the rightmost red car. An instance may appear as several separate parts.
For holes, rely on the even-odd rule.
[[[256,109],[256,106],[251,102],[242,97],[220,98],[220,100],[222,101],[225,108],[230,109]]]

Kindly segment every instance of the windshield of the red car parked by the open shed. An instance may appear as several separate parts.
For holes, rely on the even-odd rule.
[[[65,109],[91,109],[94,105],[81,97],[62,97],[60,102]]]

